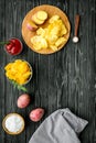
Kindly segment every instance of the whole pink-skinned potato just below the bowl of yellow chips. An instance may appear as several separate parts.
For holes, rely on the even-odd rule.
[[[19,108],[25,108],[29,106],[31,98],[28,94],[23,94],[18,98],[17,106]]]

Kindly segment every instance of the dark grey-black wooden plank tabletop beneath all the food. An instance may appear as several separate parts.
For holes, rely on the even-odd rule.
[[[34,53],[21,35],[21,24],[26,12],[40,4],[58,7],[71,21],[68,43],[52,55]],[[79,42],[73,44],[76,13],[81,15]],[[50,113],[66,107],[89,122],[79,135],[82,143],[96,143],[95,14],[95,0],[0,0],[0,41],[14,36],[23,43],[23,53],[19,56],[10,56],[3,46],[0,47],[0,143],[28,143]],[[33,78],[26,85],[33,101],[26,109],[17,107],[17,99],[22,92],[14,89],[4,77],[4,65],[15,58],[26,59],[33,67]],[[33,123],[29,113],[36,107],[43,107],[45,116],[42,121]],[[20,135],[8,135],[2,129],[2,119],[10,112],[18,112],[25,118],[25,130]]]

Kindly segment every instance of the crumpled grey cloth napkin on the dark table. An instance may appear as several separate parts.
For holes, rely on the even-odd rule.
[[[43,121],[29,143],[81,143],[77,134],[87,123],[70,109],[58,109]]]

